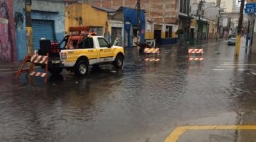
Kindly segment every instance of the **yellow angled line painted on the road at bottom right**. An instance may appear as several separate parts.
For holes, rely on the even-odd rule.
[[[165,142],[176,142],[179,137],[188,130],[255,130],[255,125],[223,125],[223,126],[180,126],[176,127],[174,131],[165,138]]]

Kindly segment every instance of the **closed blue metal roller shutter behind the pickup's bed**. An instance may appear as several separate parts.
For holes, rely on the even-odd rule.
[[[41,38],[54,40],[54,21],[32,20],[34,49],[39,49]]]

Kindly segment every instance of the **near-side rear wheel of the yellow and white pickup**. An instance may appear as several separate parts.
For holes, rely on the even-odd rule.
[[[74,74],[76,74],[76,76],[87,76],[88,69],[88,62],[85,60],[80,60],[76,63]]]

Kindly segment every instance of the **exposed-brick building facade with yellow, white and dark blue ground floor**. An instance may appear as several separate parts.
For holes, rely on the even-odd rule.
[[[130,7],[136,9],[136,0],[82,0],[80,2],[103,8]],[[141,0],[140,8],[145,10],[145,39],[156,39],[159,44],[175,44],[177,42],[175,33],[178,28],[178,7],[178,0]]]

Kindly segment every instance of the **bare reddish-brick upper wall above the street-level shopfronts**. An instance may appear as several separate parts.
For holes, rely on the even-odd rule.
[[[98,7],[117,9],[121,6],[134,8],[137,0],[89,1]],[[141,9],[145,10],[146,20],[157,23],[177,24],[178,0],[141,0]]]

